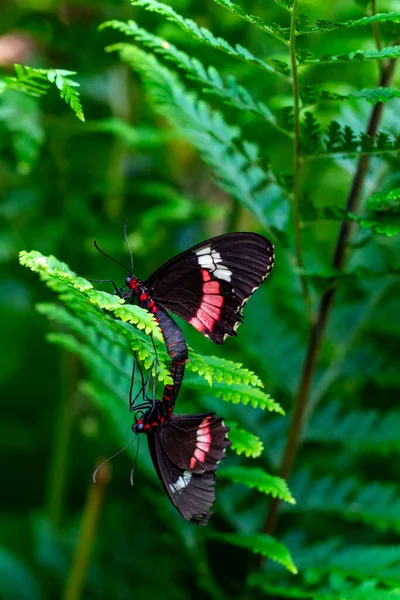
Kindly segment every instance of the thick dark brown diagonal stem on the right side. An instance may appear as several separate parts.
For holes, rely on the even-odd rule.
[[[380,87],[388,87],[392,80],[395,59],[390,60],[386,63],[379,81]],[[378,125],[382,116],[383,104],[379,102],[372,109],[367,133],[370,136],[374,136],[377,132]],[[365,176],[367,174],[370,157],[368,155],[360,156],[357,163],[357,169],[353,179],[351,189],[346,202],[346,211],[356,212],[363,188]],[[346,250],[350,239],[353,223],[345,220],[340,226],[339,235],[336,242],[336,247],[332,259],[332,266],[335,269],[342,270],[346,258]],[[326,324],[328,322],[334,297],[336,294],[337,286],[335,278],[331,280],[331,286],[322,295],[317,319],[311,326],[309,342],[306,357],[303,364],[301,373],[300,383],[298,392],[296,395],[292,420],[290,423],[289,433],[286,441],[285,450],[283,453],[282,464],[279,475],[284,479],[287,479],[292,471],[293,463],[296,457],[300,436],[303,429],[304,417],[306,414],[306,408],[309,400],[311,385],[314,378],[315,368],[319,358],[319,350],[321,347],[322,339],[325,333]],[[271,501],[267,519],[265,522],[264,530],[266,533],[273,533],[275,530],[277,516],[278,516],[279,499]]]

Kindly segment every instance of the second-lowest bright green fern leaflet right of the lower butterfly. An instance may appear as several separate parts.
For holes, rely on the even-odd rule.
[[[280,498],[290,504],[295,504],[287,483],[284,479],[270,475],[257,467],[225,467],[218,471],[219,477],[231,479],[234,483],[242,483],[249,488],[256,488],[259,492]]]

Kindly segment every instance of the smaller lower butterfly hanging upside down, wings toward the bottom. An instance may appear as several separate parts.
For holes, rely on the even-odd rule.
[[[172,504],[188,521],[206,525],[215,500],[215,471],[231,444],[223,420],[213,412],[175,415],[168,402],[155,400],[132,429],[147,435],[154,468]]]

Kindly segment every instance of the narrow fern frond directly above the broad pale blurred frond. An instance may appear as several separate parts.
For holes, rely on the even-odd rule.
[[[205,92],[218,96],[239,110],[244,110],[260,117],[276,129],[279,129],[279,131],[282,131],[285,135],[290,135],[286,129],[279,126],[277,119],[268,106],[261,101],[255,100],[249,90],[240,85],[233,75],[225,82],[215,67],[206,68],[197,58],[189,56],[189,54],[179,50],[170,42],[149,33],[146,29],[142,29],[135,21],[128,21],[127,23],[123,21],[108,21],[103,23],[101,27],[102,29],[112,27],[113,29],[122,31],[126,35],[134,37],[146,47],[151,48],[157,54],[164,56],[164,58],[176,64],[178,68],[184,71],[188,78],[200,83]],[[120,49],[119,45],[111,46],[111,48],[115,47]]]

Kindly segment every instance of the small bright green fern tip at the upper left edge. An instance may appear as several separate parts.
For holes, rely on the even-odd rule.
[[[15,72],[16,77],[4,78],[6,87],[31,96],[43,96],[51,87],[50,84],[54,84],[60,92],[60,97],[71,107],[78,119],[85,120],[77,90],[79,83],[71,79],[71,75],[76,75],[75,71],[15,65]]]

